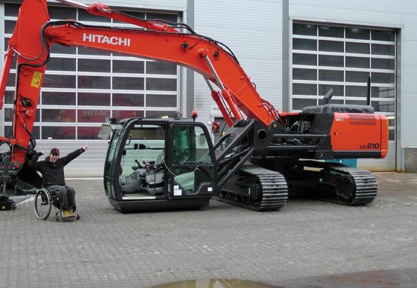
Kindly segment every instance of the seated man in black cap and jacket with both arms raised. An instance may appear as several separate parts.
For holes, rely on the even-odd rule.
[[[59,149],[52,148],[49,156],[43,161],[38,161],[39,156],[43,155],[43,151],[36,152],[29,162],[31,168],[36,169],[42,174],[43,186],[58,196],[60,200],[60,207],[62,209],[62,216],[64,218],[76,216],[76,200],[75,190],[73,187],[65,184],[64,167],[72,160],[77,158],[81,153],[87,150],[88,145],[81,147],[68,155],[59,158]]]

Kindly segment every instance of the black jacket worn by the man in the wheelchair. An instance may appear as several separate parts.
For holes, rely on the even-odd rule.
[[[29,162],[29,167],[42,173],[42,183],[45,187],[51,185],[65,185],[64,167],[81,155],[85,150],[79,148],[68,155],[58,158],[55,163],[50,162],[50,157],[46,157],[43,161],[38,161],[41,152],[37,152]]]

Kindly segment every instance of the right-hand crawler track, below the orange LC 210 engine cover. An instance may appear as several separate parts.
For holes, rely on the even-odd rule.
[[[376,182],[375,176],[370,171],[353,167],[341,167],[339,165],[329,165],[328,168],[330,168],[331,171],[351,176],[355,181],[356,187],[354,197],[348,202],[337,199],[329,199],[330,201],[357,206],[372,203],[373,199],[375,199],[378,183]]]

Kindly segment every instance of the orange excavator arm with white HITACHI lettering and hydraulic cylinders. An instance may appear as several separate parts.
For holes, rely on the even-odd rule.
[[[111,11],[104,4],[87,6],[61,1],[84,8],[91,14],[136,24],[147,30],[92,26],[75,21],[50,22],[46,0],[23,2],[16,29],[8,43],[0,82],[0,94],[4,95],[12,58],[17,55],[13,137],[1,138],[1,141],[12,146],[11,161],[19,162],[18,166],[25,162],[26,151],[35,146],[31,131],[52,44],[104,49],[187,67],[207,80],[211,96],[230,126],[244,117],[259,119],[265,125],[277,120],[278,113],[258,94],[233,53],[218,42],[191,29],[189,33],[180,33],[160,21],[145,21]],[[36,13],[36,19],[33,13]],[[185,24],[178,26],[188,28]]]

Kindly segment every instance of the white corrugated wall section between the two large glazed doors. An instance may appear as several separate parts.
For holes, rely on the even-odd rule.
[[[281,110],[282,1],[229,0],[195,3],[195,31],[227,45],[262,98]],[[195,109],[210,121],[214,104],[203,77],[195,76]]]

